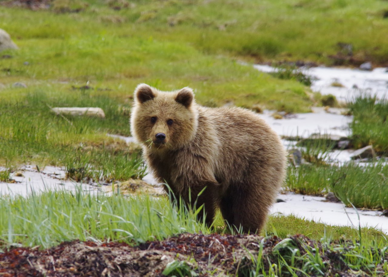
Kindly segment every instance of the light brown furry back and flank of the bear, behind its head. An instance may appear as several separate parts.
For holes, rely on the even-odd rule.
[[[286,154],[279,136],[253,111],[238,107],[200,107],[199,111],[213,130],[210,137],[217,149],[208,157],[220,180],[241,182],[257,168],[283,171]],[[202,127],[199,123],[198,132]]]

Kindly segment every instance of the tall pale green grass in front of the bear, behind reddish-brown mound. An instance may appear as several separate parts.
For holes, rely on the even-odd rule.
[[[48,248],[62,241],[125,241],[138,244],[209,229],[198,211],[174,208],[167,198],[46,191],[0,197],[0,249],[11,245]]]

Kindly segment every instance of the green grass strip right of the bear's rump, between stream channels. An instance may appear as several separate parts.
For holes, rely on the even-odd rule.
[[[300,194],[322,195],[331,191],[347,206],[387,209],[388,166],[379,162],[336,165],[308,165],[288,168],[287,190]]]

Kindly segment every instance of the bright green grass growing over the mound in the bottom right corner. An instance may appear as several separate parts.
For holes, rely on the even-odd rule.
[[[352,240],[312,241],[301,235],[282,240],[265,237],[250,267],[238,276],[385,276],[388,274],[386,241],[380,244]],[[352,276],[350,275],[350,276]]]

